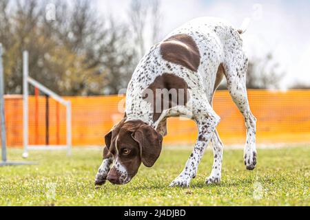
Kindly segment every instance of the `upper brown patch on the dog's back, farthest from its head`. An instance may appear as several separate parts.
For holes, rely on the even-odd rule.
[[[161,43],[161,55],[165,61],[182,65],[197,72],[200,53],[195,41],[187,34],[177,34]]]

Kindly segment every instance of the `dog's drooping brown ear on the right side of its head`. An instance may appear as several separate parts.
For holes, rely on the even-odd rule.
[[[147,167],[152,167],[159,155],[163,144],[163,136],[147,124],[141,125],[132,135],[140,146],[141,160]]]

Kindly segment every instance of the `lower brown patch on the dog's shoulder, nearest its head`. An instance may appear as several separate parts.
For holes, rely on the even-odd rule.
[[[167,89],[166,91],[169,92],[169,96],[167,97],[161,94],[160,97],[157,97],[156,89],[159,89],[158,91]],[[176,100],[173,100],[171,96],[174,91],[176,91],[176,97],[174,97]],[[183,93],[181,91],[183,91]],[[152,93],[152,96],[149,96],[149,93]],[[158,118],[161,117],[164,110],[187,104],[189,101],[188,85],[183,78],[174,74],[163,74],[155,78],[154,82],[145,89],[143,92],[143,99],[152,104],[153,120],[156,122]]]

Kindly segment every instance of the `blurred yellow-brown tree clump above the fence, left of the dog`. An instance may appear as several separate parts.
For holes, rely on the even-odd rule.
[[[45,19],[51,2],[56,5],[55,21]],[[134,69],[134,46],[127,42],[130,31],[99,16],[87,0],[70,6],[61,0],[3,0],[0,19],[9,94],[22,91],[23,50],[30,52],[31,76],[62,95],[115,94]]]

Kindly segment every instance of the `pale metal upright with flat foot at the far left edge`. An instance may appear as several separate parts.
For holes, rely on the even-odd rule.
[[[0,166],[18,166],[18,165],[32,165],[37,164],[34,162],[9,162],[6,155],[6,118],[4,114],[4,76],[3,76],[3,63],[2,63],[2,45],[0,43],[0,114],[1,114],[1,156],[2,161]]]

